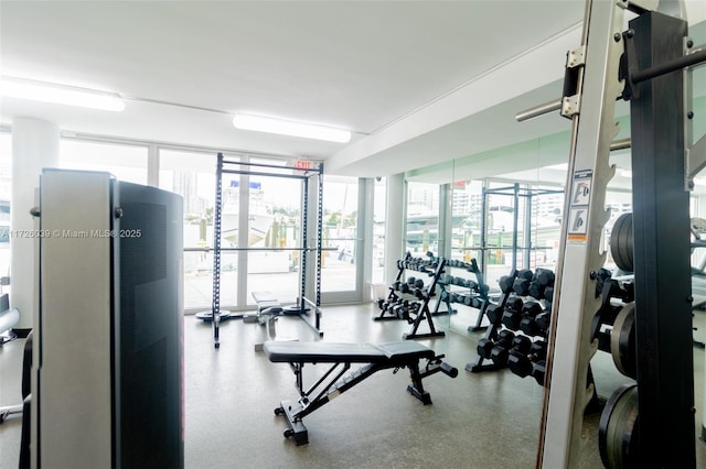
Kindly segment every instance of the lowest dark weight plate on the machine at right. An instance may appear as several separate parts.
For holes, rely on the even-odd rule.
[[[598,448],[607,468],[635,467],[638,417],[638,385],[624,384],[613,392],[600,415]]]

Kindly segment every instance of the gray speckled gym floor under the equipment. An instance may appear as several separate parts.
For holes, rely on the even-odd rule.
[[[373,305],[324,308],[321,340],[386,342],[400,340],[409,326],[373,321]],[[695,336],[706,339],[706,313],[697,313]],[[297,447],[282,436],[284,417],[274,414],[284,399],[297,399],[295,375],[287,363],[270,363],[255,345],[264,327],[231,320],[221,327],[221,348],[214,349],[211,326],[193,316],[185,330],[185,462],[186,468],[533,468],[539,432],[543,389],[534,380],[507,370],[470,373],[478,334],[447,332],[420,340],[459,368],[450,379],[438,373],[425,380],[432,405],[406,392],[409,374],[381,371],[304,418],[310,444]],[[319,340],[297,317],[277,321],[278,338]],[[71,338],[67,338],[71,340]],[[79,340],[79,338],[75,338]],[[23,340],[0,348],[0,405],[20,400]],[[700,434],[704,350],[694,348],[696,430]],[[610,357],[592,361],[602,396],[629,380]],[[307,382],[325,371],[304,367]],[[600,468],[598,415],[586,422],[589,443],[585,468]],[[18,465],[21,418],[0,425],[0,468]],[[697,441],[699,467],[706,466],[704,444]]]

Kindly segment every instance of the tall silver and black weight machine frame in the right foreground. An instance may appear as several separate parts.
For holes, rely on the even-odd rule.
[[[567,53],[563,98],[517,117],[560,109],[573,121],[538,467],[577,467],[588,436],[584,411],[593,389],[587,373],[598,346],[595,282],[606,257],[600,236],[614,173],[609,153],[625,148],[613,141],[617,98],[631,103],[638,385],[620,388],[608,401],[601,458],[610,468],[696,465],[687,190],[706,157],[703,138],[686,148],[684,68],[704,62],[706,51],[686,37],[683,7],[588,0],[582,43]],[[628,31],[625,9],[638,15]]]

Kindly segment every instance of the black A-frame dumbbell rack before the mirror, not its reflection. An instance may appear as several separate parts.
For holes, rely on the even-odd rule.
[[[388,287],[389,293],[387,298],[378,303],[381,307],[379,316],[373,318],[374,320],[406,319],[409,321],[411,328],[409,332],[403,335],[403,339],[411,340],[428,337],[443,337],[446,335],[442,330],[436,328],[434,324],[435,314],[429,308],[429,302],[435,296],[446,261],[442,258],[434,258],[429,254],[427,254],[427,257],[428,259],[414,258],[411,253],[407,252],[405,259],[397,261],[398,271],[395,282]],[[409,283],[404,280],[408,271],[430,275],[431,283],[426,287],[417,286],[411,288]],[[405,296],[414,299],[405,299]],[[405,304],[405,302],[407,303]],[[420,334],[418,329],[425,319],[429,325],[429,332]]]

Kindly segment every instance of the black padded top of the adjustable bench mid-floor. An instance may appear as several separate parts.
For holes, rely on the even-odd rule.
[[[434,350],[422,343],[406,340],[391,343],[331,343],[331,342],[278,342],[269,340],[264,346],[271,362],[315,363],[389,363],[431,359]]]

